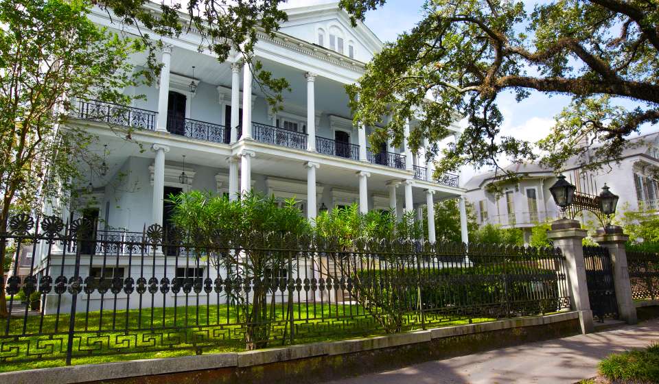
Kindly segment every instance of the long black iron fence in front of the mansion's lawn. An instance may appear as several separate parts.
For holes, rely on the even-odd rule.
[[[6,284],[0,361],[262,348],[570,307],[552,248],[92,227],[22,215],[0,234],[35,255]]]

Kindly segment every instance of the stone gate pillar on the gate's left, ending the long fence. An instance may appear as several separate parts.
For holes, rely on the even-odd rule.
[[[581,229],[579,221],[560,219],[551,224],[547,237],[553,241],[565,256],[565,269],[568,274],[570,289],[570,304],[579,313],[581,333],[594,331],[590,300],[588,299],[588,284],[586,283],[586,264],[583,261],[583,245],[581,241],[588,231]]]

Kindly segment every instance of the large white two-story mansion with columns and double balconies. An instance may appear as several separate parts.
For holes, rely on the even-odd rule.
[[[336,3],[286,12],[277,37],[259,34],[255,47],[264,70],[285,77],[292,88],[276,115],[255,86],[249,64],[240,57],[218,62],[198,51],[194,30],[163,37],[158,84],[125,90],[146,99],[129,108],[80,102],[70,123],[100,138],[95,150],[108,169],[103,175],[90,172],[92,198],[76,204],[86,206],[82,213],[65,212],[65,219],[86,215],[99,219],[98,230],[141,232],[145,224],[167,226],[170,207],[163,197],[170,193],[197,189],[235,198],[253,189],[295,197],[311,220],[320,209],[353,203],[362,212],[393,208],[399,215],[420,213],[428,204],[432,225],[426,235],[434,241],[430,203],[463,195],[458,177],[432,180],[423,152],[414,154],[406,143],[373,150],[367,140],[371,128],[354,127],[347,105],[344,86],[358,80],[382,42],[361,23],[351,27]],[[100,10],[90,17],[119,27]],[[131,28],[123,25],[122,31]],[[143,66],[146,53],[132,60]],[[118,115],[117,108],[123,108]],[[122,126],[137,128],[131,136],[141,148],[117,134]],[[457,126],[454,133],[460,133]],[[179,178],[183,172],[185,183]]]

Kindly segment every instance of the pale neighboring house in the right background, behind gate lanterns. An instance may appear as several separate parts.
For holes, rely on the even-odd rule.
[[[599,195],[606,183],[620,197],[618,211],[655,211],[659,208],[659,184],[652,175],[659,169],[659,133],[638,136],[631,143],[618,163],[586,171],[581,165],[589,159],[573,158],[562,173],[577,191],[589,195]],[[533,163],[505,169],[522,176],[520,182],[504,185],[501,194],[494,194],[487,191],[495,178],[494,171],[478,174],[464,185],[467,200],[474,204],[478,224],[522,228],[528,241],[535,224],[555,219],[560,213],[549,192],[557,180],[556,173]]]

